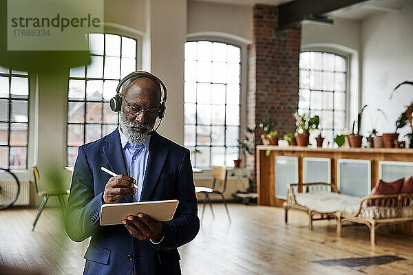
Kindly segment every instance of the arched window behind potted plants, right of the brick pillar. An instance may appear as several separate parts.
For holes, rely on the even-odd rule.
[[[299,54],[299,113],[319,115],[319,129],[330,146],[335,135],[346,128],[346,91],[346,56],[329,52]]]

